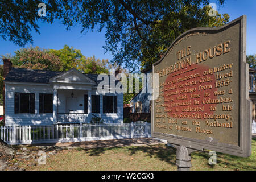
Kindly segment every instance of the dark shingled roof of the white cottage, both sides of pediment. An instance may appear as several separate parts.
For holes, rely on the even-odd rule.
[[[4,81],[49,84],[50,78],[60,75],[61,73],[64,72],[47,71],[40,69],[11,68]],[[82,74],[84,74],[86,77],[89,77],[97,84],[101,82],[101,80],[97,80],[98,74]]]

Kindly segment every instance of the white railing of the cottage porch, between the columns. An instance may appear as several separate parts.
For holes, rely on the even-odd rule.
[[[88,114],[84,113],[62,113],[58,114],[58,123],[80,123],[86,122]]]

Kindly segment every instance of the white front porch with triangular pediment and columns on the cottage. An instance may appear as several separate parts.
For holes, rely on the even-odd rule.
[[[53,84],[53,123],[90,122],[92,91],[96,82],[76,69],[61,73],[49,80]]]

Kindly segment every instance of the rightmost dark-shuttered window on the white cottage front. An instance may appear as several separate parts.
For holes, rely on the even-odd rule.
[[[103,113],[117,113],[117,96],[103,96]]]

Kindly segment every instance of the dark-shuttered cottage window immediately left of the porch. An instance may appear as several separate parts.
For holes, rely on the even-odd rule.
[[[52,113],[53,94],[39,93],[39,113]]]

